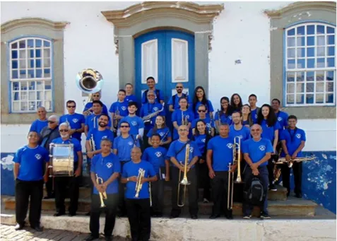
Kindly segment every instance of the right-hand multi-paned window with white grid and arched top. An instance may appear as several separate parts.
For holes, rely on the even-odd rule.
[[[336,27],[285,29],[285,106],[336,105]]]

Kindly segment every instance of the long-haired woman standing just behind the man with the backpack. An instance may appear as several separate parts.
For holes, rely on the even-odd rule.
[[[261,111],[257,114],[257,124],[262,128],[261,137],[271,141],[273,145],[273,151],[276,153],[276,146],[278,144],[278,129],[280,129],[280,124],[276,119],[276,114],[270,105],[264,104],[261,106]],[[275,184],[273,183],[273,157],[268,160],[268,172],[269,172],[269,189],[271,191],[276,191]]]

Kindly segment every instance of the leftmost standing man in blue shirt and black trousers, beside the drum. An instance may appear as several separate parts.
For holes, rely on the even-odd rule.
[[[28,145],[18,149],[14,157],[14,179],[16,180],[16,227],[25,226],[25,217],[29,207],[30,227],[41,232],[40,218],[43,196],[43,180],[48,175],[49,155],[42,146],[38,146],[39,135],[36,131],[28,134]],[[45,165],[45,175],[42,166]],[[30,201],[29,201],[30,199]]]

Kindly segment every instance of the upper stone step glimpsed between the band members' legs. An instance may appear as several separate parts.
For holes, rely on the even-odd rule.
[[[268,200],[271,200],[271,201],[286,200],[287,199],[287,189],[280,185],[276,185],[276,188],[277,188],[277,191],[268,192]],[[235,190],[234,200],[241,201],[242,197],[240,197],[240,192],[242,193],[242,185],[235,184],[234,190]],[[44,188],[44,196],[47,196],[47,192],[45,188]],[[164,196],[165,202],[168,201],[170,203],[171,196],[172,196],[172,187],[170,187],[169,185],[165,185],[165,196]],[[79,198],[80,199],[90,199],[90,188],[80,187]],[[199,201],[202,201],[202,200],[203,200],[203,189],[199,189]]]

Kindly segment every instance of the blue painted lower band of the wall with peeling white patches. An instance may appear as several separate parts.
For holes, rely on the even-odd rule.
[[[305,152],[305,155],[312,154],[316,159],[303,163],[302,192],[304,197],[336,213],[336,152]],[[13,155],[14,153],[1,153],[2,195],[14,196],[15,194]],[[86,161],[83,160],[84,168],[86,168],[85,163]],[[83,170],[83,173],[86,171],[86,169]],[[291,187],[293,188],[293,179]]]

